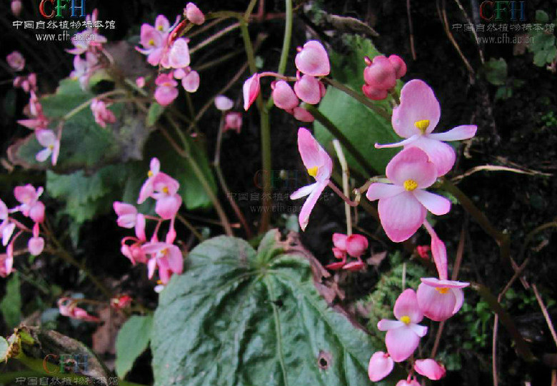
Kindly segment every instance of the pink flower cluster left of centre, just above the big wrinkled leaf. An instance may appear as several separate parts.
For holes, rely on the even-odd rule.
[[[129,203],[114,202],[114,211],[118,215],[117,223],[122,228],[135,228],[135,236],[127,236],[121,240],[121,253],[129,258],[132,264],[145,263],[149,278],[153,278],[156,270],[163,285],[169,282],[171,275],[180,274],[184,268],[182,252],[177,245],[174,221],[181,206],[182,199],[178,194],[180,184],[174,178],[160,171],[161,165],[157,158],[151,159],[148,178],[141,186],[138,204],[147,198],[156,200],[155,212],[160,217],[138,213],[136,207]],[[154,232],[149,241],[146,237],[146,220],[156,221]],[[159,230],[164,220],[170,220],[169,230],[164,242],[159,241]],[[131,243],[129,243],[131,242]]]

